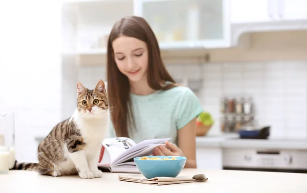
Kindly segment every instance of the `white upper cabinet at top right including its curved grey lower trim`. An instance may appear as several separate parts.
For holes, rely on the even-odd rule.
[[[307,0],[230,1],[231,46],[245,33],[307,29]]]

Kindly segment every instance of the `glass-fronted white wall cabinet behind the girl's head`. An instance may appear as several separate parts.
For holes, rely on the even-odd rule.
[[[134,14],[144,17],[161,49],[229,46],[227,0],[135,0]]]

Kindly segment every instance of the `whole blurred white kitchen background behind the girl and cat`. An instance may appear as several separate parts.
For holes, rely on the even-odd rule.
[[[0,3],[0,111],[15,112],[18,160],[36,161],[38,142],[72,114],[77,80],[90,88],[105,80],[107,35],[116,20],[134,14],[156,33],[171,75],[214,120],[206,136],[197,137],[200,168],[307,168],[307,1],[18,4]],[[269,139],[223,132],[229,119],[223,118],[224,97],[233,109],[228,99],[248,98],[256,125],[271,126]],[[242,119],[234,116],[233,125]]]

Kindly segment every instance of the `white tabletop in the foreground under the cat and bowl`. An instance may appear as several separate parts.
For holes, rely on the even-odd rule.
[[[180,175],[192,177],[195,174],[205,174],[208,181],[157,186],[120,181],[116,173],[81,179],[77,175],[51,177],[40,176],[35,171],[10,170],[9,174],[0,175],[0,192],[307,192],[307,174],[183,169]]]

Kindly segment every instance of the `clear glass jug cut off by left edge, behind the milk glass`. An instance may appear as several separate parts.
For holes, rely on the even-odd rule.
[[[15,164],[15,114],[0,113],[0,147],[10,150],[9,169]]]

